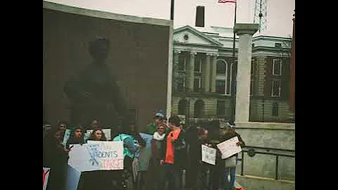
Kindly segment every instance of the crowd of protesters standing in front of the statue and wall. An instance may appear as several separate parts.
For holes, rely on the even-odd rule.
[[[65,129],[70,129],[67,122],[58,122],[58,127],[44,123],[44,167],[50,167],[47,190],[63,190],[66,186],[68,153],[74,144],[85,144],[86,140],[108,141],[107,134],[93,120],[90,127],[90,136],[85,139],[84,127],[73,127],[69,139],[63,144]],[[141,133],[152,136],[151,156],[145,171],[135,173],[134,163],[142,159],[140,153],[146,147],[146,141]],[[178,115],[166,118],[158,111],[154,120],[142,131],[135,122],[126,120],[118,132],[111,132],[109,141],[123,141],[124,169],[120,172],[96,170],[82,172],[77,190],[108,190],[116,189],[113,179],[122,182],[121,188],[126,188],[125,177],[132,178],[132,189],[161,190],[161,189],[234,189],[237,154],[222,159],[217,147],[220,142],[232,137],[238,137],[237,146],[244,146],[244,141],[235,132],[234,125],[220,128],[218,120],[201,121],[186,126]],[[215,165],[202,161],[201,145],[215,148]],[[147,157],[148,159],[148,157]],[[229,179],[230,178],[230,179]]]

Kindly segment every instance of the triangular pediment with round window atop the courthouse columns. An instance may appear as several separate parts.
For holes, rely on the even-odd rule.
[[[199,44],[206,46],[223,46],[222,43],[217,40],[208,37],[203,32],[194,29],[189,25],[179,27],[174,30],[173,39],[175,43],[180,44]]]

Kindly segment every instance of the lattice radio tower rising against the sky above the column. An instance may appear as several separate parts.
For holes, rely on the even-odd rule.
[[[267,0],[255,0],[253,23],[259,24],[259,33],[261,33],[263,30],[266,30],[266,1]]]

